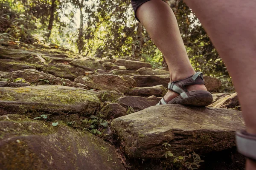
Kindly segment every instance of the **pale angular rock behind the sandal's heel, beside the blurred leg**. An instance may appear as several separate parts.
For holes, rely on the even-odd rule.
[[[233,108],[236,110],[241,110],[237,93],[233,93],[218,99],[216,102],[209,105],[213,108]]]

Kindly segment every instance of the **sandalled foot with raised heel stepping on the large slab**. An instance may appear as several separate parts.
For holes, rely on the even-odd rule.
[[[207,106],[212,103],[212,94],[204,85],[203,73],[169,83],[169,91],[157,105],[181,104]]]

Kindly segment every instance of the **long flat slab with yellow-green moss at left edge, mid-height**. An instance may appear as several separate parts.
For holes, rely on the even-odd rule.
[[[93,114],[99,108],[99,97],[97,92],[60,85],[0,88],[0,115],[2,110],[9,113]]]

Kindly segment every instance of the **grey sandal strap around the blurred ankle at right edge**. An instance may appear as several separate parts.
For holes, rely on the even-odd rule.
[[[256,161],[256,135],[247,133],[245,130],[237,131],[236,145],[239,153]]]

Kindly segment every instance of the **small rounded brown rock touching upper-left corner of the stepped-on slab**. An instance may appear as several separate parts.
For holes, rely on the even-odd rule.
[[[126,113],[126,109],[123,108],[121,105],[117,104],[117,103],[110,103],[108,105],[106,105],[102,111],[102,119],[114,119],[117,117],[121,117],[121,116],[125,116]]]

